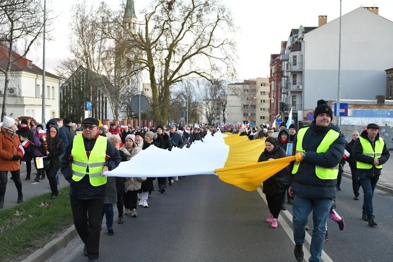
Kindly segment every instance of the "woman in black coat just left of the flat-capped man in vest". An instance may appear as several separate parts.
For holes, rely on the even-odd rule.
[[[44,160],[49,160],[49,166],[44,167],[46,176],[49,180],[50,191],[52,194],[50,195],[50,199],[55,199],[59,195],[58,191],[58,182],[56,180],[56,174],[60,168],[60,159],[59,157],[64,152],[64,143],[63,140],[59,137],[59,127],[51,126],[49,128],[49,137],[46,138],[47,148],[45,148],[45,143],[41,144],[40,151],[46,156]]]

